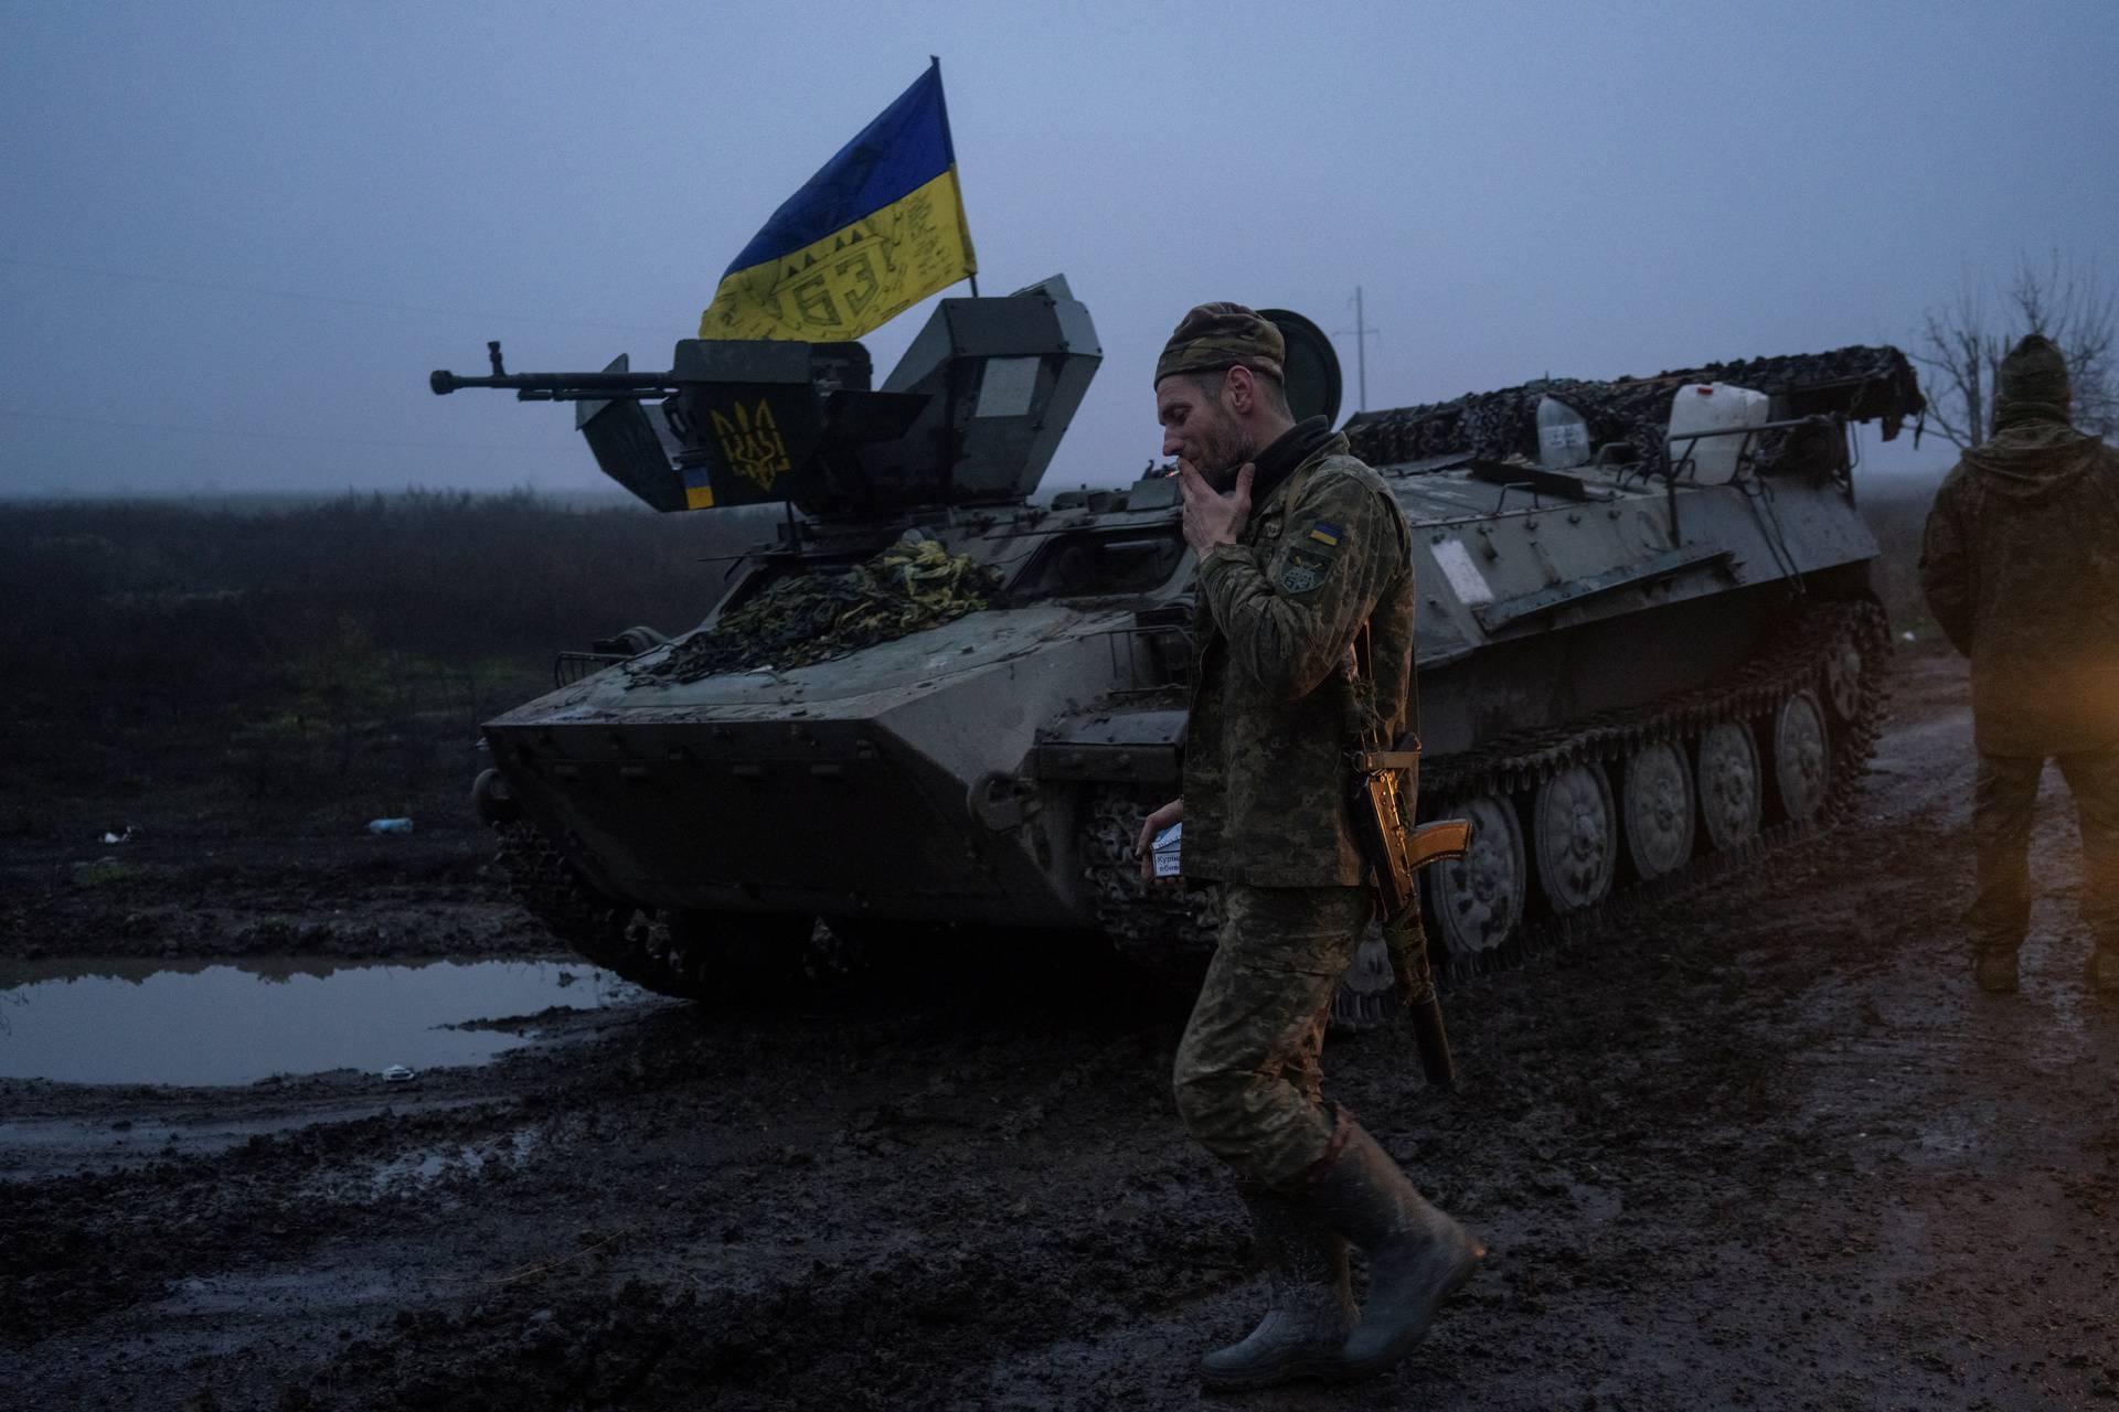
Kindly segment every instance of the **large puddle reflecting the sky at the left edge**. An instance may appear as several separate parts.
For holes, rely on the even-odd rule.
[[[15,965],[0,974],[0,1078],[250,1084],[273,1073],[475,1065],[528,1039],[449,1025],[640,997],[578,961]]]

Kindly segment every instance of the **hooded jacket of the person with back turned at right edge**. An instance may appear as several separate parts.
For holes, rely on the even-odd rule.
[[[1935,493],[1920,584],[1973,663],[1981,754],[2119,743],[2119,451],[2005,417]]]

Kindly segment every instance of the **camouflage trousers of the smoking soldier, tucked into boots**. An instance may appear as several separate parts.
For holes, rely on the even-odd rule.
[[[1223,910],[1172,1071],[1178,1114],[1237,1179],[1282,1185],[1331,1147],[1318,1052],[1333,989],[1369,925],[1369,891],[1229,885]]]

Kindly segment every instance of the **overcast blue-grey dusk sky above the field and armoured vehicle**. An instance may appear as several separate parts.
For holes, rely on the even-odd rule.
[[[1157,453],[1155,351],[1206,298],[1339,330],[1363,286],[1394,406],[1907,343],[2019,254],[2119,267],[2108,2],[0,17],[0,493],[606,485],[568,409],[428,368],[667,366],[930,53],[981,288],[1064,271],[1104,339],[1047,487]]]

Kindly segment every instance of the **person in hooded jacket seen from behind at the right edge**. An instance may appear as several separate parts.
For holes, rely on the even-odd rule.
[[[2068,426],[2068,366],[2030,334],[2000,364],[1994,438],[1928,512],[1920,582],[1973,667],[1973,976],[2017,989],[2032,804],[2049,758],[2083,840],[2089,980],[2119,991],[2119,451]]]

